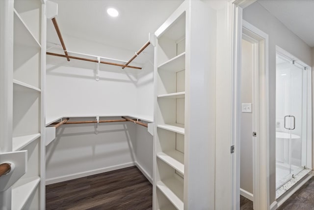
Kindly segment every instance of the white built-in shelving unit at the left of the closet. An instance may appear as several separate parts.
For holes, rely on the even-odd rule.
[[[42,129],[42,10],[44,1],[14,0],[7,9],[13,18],[8,29],[13,28],[13,60],[8,66],[8,80],[13,91],[7,94],[13,99],[12,151],[27,150],[27,170],[12,185],[11,209],[41,209],[44,200],[41,193],[41,129]],[[11,77],[12,76],[12,77]]]

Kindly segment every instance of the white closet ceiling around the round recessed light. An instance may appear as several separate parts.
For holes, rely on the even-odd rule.
[[[62,34],[92,40],[132,51],[147,41],[183,0],[52,0],[58,4],[56,17]],[[112,18],[106,9],[114,7]],[[47,41],[58,42],[51,21]],[[65,43],[66,44],[66,43]]]

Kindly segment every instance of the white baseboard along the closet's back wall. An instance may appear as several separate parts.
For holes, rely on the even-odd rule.
[[[84,171],[84,172],[80,172],[80,173],[76,173],[76,174],[69,174],[69,175],[65,175],[65,176],[50,178],[50,179],[46,179],[46,185],[58,183],[58,182],[61,182],[61,181],[74,180],[74,179],[87,177],[87,176],[91,176],[91,175],[95,175],[95,174],[101,174],[101,173],[105,173],[105,172],[108,172],[108,171],[114,171],[114,170],[117,170],[117,169],[131,167],[131,166],[134,166],[134,165],[135,165],[134,162],[130,162],[130,163],[124,163],[124,164],[120,164],[120,165],[109,166],[109,167],[95,169],[95,170],[90,170],[90,171]],[[146,177],[146,175],[145,175],[145,177]]]

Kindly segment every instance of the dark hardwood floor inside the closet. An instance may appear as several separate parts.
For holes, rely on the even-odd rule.
[[[46,210],[151,210],[152,184],[135,167],[46,186]]]

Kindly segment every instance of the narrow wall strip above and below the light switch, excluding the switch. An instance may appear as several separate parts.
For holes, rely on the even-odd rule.
[[[241,103],[252,103],[253,46],[242,39]],[[252,110],[255,112],[255,110]],[[241,113],[240,188],[253,194],[253,114]]]

